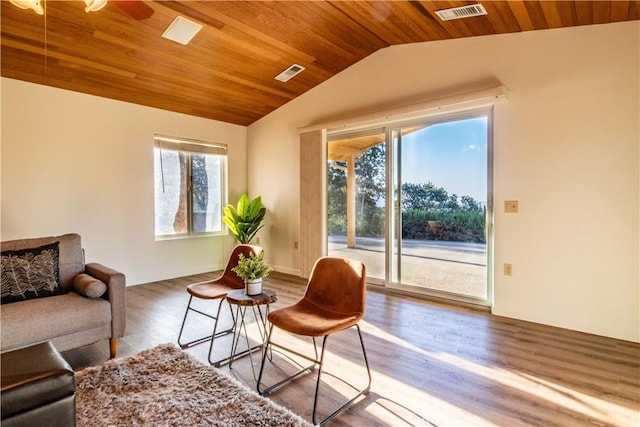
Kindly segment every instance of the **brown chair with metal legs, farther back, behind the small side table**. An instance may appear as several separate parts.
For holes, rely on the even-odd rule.
[[[222,309],[223,303],[226,301],[227,293],[234,289],[244,289],[244,281],[239,278],[236,273],[231,271],[231,269],[238,265],[238,258],[240,257],[240,254],[244,255],[245,257],[249,257],[251,253],[260,255],[262,252],[263,250],[260,246],[237,245],[231,252],[229,261],[227,262],[227,267],[220,277],[208,282],[194,283],[187,286],[187,292],[189,293],[189,303],[187,304],[187,309],[184,313],[184,319],[182,320],[182,326],[180,327],[180,333],[178,334],[178,345],[181,348],[185,349],[193,347],[194,345],[202,344],[210,340],[211,345],[209,346],[209,363],[211,363],[212,365],[220,366],[220,364],[224,360],[226,360],[221,359],[218,361],[212,361],[211,354],[213,353],[213,342],[215,341],[215,339],[220,336],[227,335],[233,331],[233,325],[229,329],[218,331],[218,319],[220,318],[220,310]],[[218,309],[216,315],[214,316],[210,313],[205,313],[204,311],[191,307],[191,302],[193,301],[194,297],[202,300],[217,300]],[[227,306],[229,306],[228,303]],[[187,322],[187,316],[191,311],[213,319],[213,332],[211,333],[211,335],[197,338],[187,343],[182,343],[182,333],[184,332],[185,323]],[[229,311],[231,311],[231,307],[229,307]]]

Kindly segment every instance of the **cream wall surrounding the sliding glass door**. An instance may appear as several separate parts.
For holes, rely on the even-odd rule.
[[[640,23],[383,49],[248,129],[249,191],[281,271],[299,272],[297,128],[502,83],[493,313],[640,341]],[[513,276],[502,264],[513,264]]]

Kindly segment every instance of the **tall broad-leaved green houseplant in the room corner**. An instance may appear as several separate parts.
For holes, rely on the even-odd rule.
[[[243,194],[240,196],[237,206],[229,203],[222,211],[224,213],[222,220],[229,227],[231,234],[241,244],[247,244],[264,226],[262,220],[267,209],[262,207],[262,197],[258,196],[249,200],[249,197]]]

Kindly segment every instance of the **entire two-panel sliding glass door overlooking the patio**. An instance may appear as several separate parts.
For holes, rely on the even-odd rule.
[[[488,304],[490,121],[484,111],[332,135],[329,254],[365,262],[383,286]]]

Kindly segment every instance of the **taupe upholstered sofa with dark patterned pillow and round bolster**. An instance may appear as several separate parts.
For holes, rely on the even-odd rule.
[[[126,324],[124,274],[85,265],[78,234],[2,242],[1,250],[0,352],[45,341],[65,351],[108,339],[115,357]],[[58,277],[45,277],[47,269]]]

